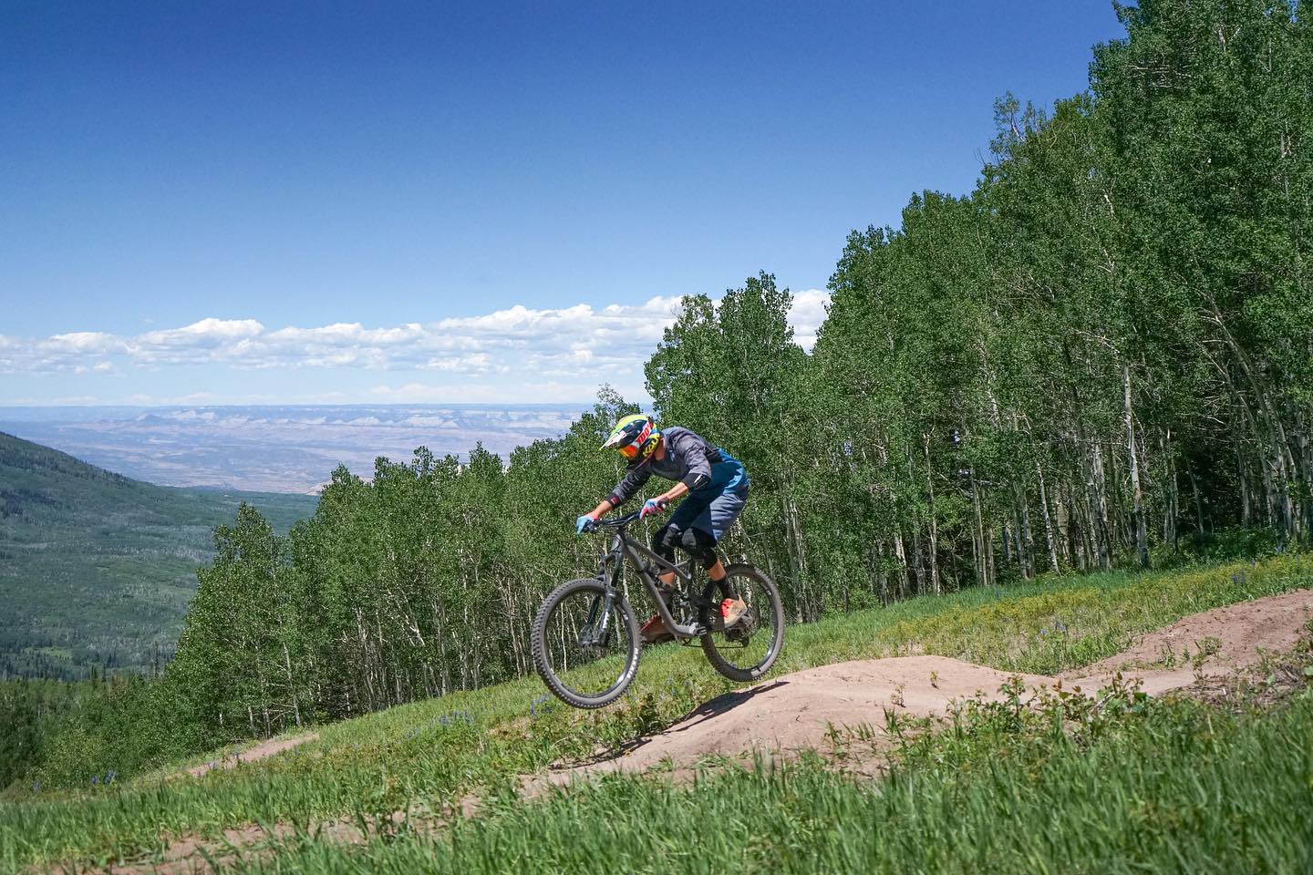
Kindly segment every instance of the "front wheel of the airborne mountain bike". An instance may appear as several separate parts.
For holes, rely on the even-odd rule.
[[[596,577],[557,586],[533,621],[533,665],[548,689],[576,708],[624,694],[638,670],[638,626],[624,593]]]

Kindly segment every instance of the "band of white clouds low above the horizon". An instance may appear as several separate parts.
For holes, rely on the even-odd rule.
[[[815,342],[829,294],[794,295],[792,323],[805,349]],[[504,400],[524,386],[528,400],[575,400],[612,382],[642,386],[642,362],[679,314],[679,298],[593,308],[515,306],[479,315],[368,328],[360,323],[268,331],[255,319],[209,317],[135,336],[70,332],[43,340],[0,336],[0,373],[123,375],[180,365],[231,370],[315,369],[431,374],[436,382],[386,380],[372,395],[390,400],[482,399],[481,380]],[[562,395],[550,395],[557,387]],[[134,387],[135,388],[135,387]],[[309,388],[309,387],[307,387]],[[339,388],[339,387],[334,387]],[[540,395],[538,390],[548,392]],[[580,391],[582,390],[582,391]]]

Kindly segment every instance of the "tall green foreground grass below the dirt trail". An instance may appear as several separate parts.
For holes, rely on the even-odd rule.
[[[1088,748],[978,745],[974,769],[920,760],[880,783],[817,762],[692,787],[616,777],[436,836],[306,836],[235,871],[1308,872],[1310,725],[1308,694],[1271,715],[1174,702]]]

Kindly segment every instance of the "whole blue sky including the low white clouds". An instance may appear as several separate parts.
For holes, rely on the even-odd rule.
[[[1106,0],[0,5],[0,404],[630,394],[683,294],[801,337]]]

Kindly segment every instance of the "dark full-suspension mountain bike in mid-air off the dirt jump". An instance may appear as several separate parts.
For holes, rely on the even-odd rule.
[[[597,519],[591,530],[612,535],[597,575],[561,584],[538,609],[529,645],[548,689],[576,708],[600,708],[634,680],[642,640],[624,581],[626,560],[675,640],[700,641],[712,668],[733,681],[765,674],[784,644],[784,609],[771,579],[752,565],[735,564],[725,567],[725,580],[702,579],[699,586],[692,560],[667,561],[629,534],[637,519],[638,513]],[[658,576],[666,572],[674,572],[676,582],[663,598]],[[720,611],[725,598],[747,603],[729,628]]]

